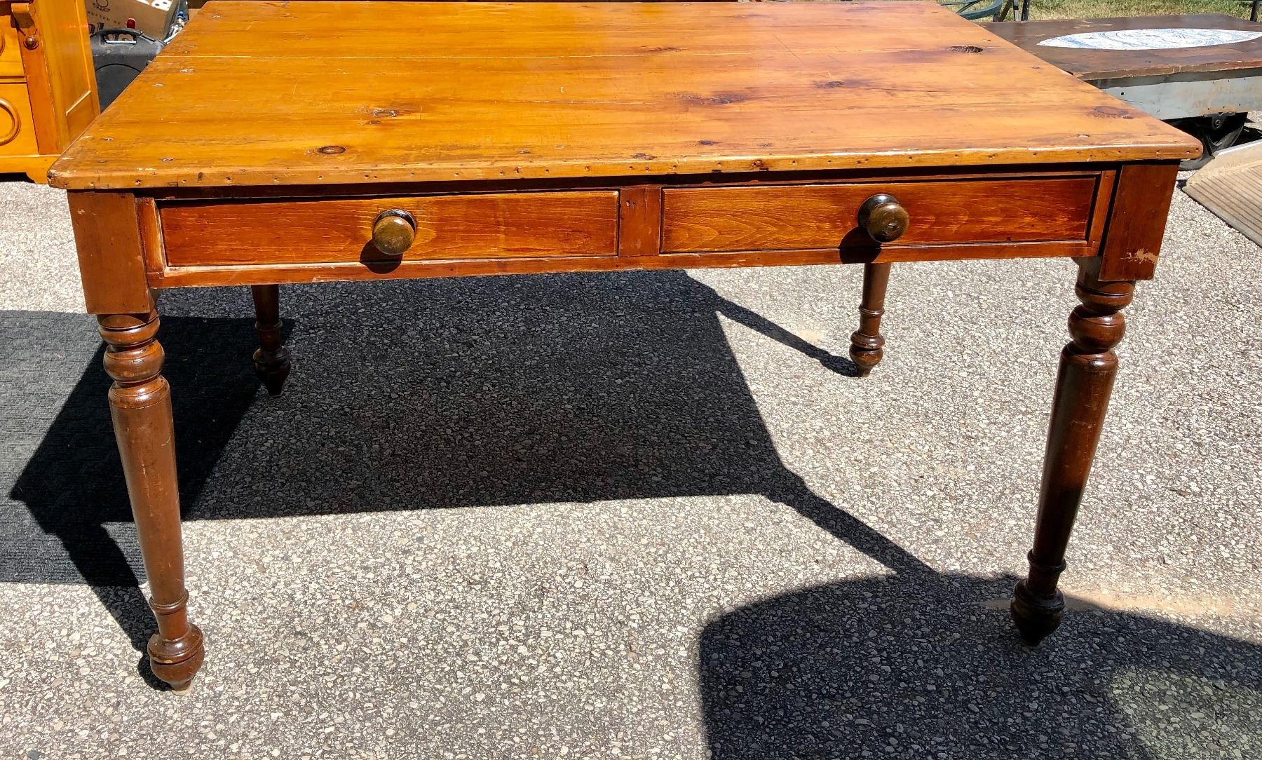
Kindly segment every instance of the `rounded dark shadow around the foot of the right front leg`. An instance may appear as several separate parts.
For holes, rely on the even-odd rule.
[[[1030,649],[993,603],[1015,581],[858,578],[717,617],[698,648],[711,756],[1262,756],[1262,646],[1079,609]]]

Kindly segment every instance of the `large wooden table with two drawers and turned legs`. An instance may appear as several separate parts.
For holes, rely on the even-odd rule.
[[[1076,259],[1012,602],[1041,640],[1119,309],[1198,150],[933,3],[208,4],[50,172],[115,380],[154,673],[186,688],[203,646],[153,290],[251,285],[280,393],[279,284],[481,274],[863,264],[862,375],[892,263]]]

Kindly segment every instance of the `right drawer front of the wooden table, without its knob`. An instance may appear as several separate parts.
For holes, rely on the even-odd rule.
[[[859,206],[876,193],[911,216],[900,245],[1085,240],[1098,177],[674,188],[663,193],[664,254],[872,246]]]

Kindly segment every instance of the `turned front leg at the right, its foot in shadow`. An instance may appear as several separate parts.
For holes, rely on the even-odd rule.
[[[1073,341],[1060,352],[1030,576],[1017,583],[1012,597],[1012,620],[1029,644],[1037,644],[1060,625],[1065,602],[1056,581],[1065,569],[1065,547],[1117,375],[1113,347],[1126,330],[1119,309],[1135,293],[1133,282],[1100,282],[1098,270],[1098,259],[1079,260],[1075,292],[1082,306],[1069,317]]]

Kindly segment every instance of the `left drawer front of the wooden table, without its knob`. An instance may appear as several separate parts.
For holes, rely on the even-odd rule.
[[[387,210],[415,222],[415,239],[401,256],[372,244],[374,222]],[[159,213],[172,266],[617,255],[618,193],[612,189],[189,201],[164,203]],[[231,234],[217,234],[225,230]]]

